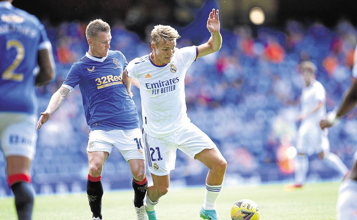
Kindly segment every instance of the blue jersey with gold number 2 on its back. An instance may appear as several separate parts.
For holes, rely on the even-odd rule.
[[[0,112],[37,112],[37,52],[50,49],[44,26],[34,15],[0,2]]]

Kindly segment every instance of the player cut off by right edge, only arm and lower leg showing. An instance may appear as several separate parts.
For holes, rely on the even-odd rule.
[[[352,70],[352,83],[350,88],[345,92],[342,103],[337,112],[330,112],[326,119],[321,120],[320,126],[322,129],[333,126],[340,118],[345,116],[357,104],[357,65],[355,50],[355,65]],[[357,153],[357,152],[356,152]],[[352,165],[351,171],[345,176],[342,181],[337,200],[337,218],[338,220],[357,220],[357,158],[355,154],[355,162]]]

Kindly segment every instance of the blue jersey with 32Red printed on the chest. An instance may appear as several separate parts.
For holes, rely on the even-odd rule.
[[[127,64],[120,51],[112,50],[102,58],[86,53],[72,64],[62,87],[73,91],[79,85],[91,130],[139,128],[135,103],[121,78]]]

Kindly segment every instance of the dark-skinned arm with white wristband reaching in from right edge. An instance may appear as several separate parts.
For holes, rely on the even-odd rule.
[[[320,121],[320,127],[322,129],[333,126],[341,117],[345,116],[352,108],[355,108],[357,104],[357,82],[354,79],[350,88],[345,92],[342,103],[337,112],[330,112],[326,119]]]

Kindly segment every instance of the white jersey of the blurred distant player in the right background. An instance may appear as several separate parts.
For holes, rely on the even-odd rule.
[[[323,106],[317,112],[310,114],[319,102],[323,102]],[[301,113],[310,114],[302,120],[302,123],[316,123],[326,116],[326,91],[319,81],[313,80],[309,86],[305,86],[302,89]]]

